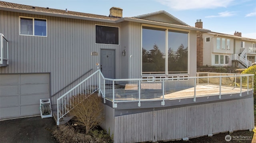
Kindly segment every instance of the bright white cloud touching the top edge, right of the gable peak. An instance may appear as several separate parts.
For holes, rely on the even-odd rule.
[[[234,0],[156,0],[174,10],[226,8]]]

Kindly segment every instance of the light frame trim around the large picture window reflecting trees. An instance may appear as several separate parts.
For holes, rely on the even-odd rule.
[[[190,59],[190,32],[191,30],[187,30],[187,29],[179,29],[179,28],[173,28],[173,27],[166,27],[166,26],[159,26],[159,25],[150,25],[150,24],[141,24],[140,25],[140,75],[141,76],[147,76],[147,75],[154,75],[154,74],[143,74],[142,73],[142,28],[144,27],[153,27],[153,28],[162,28],[162,29],[166,29],[166,44],[165,44],[165,50],[166,53],[168,53],[168,31],[169,30],[174,30],[174,31],[180,31],[180,32],[187,32],[188,33],[188,59]],[[165,64],[168,63],[168,58],[165,59]],[[168,73],[168,64],[165,66],[165,73],[164,75],[189,75],[190,73],[190,62],[188,61],[188,71],[186,73],[174,73],[174,74],[169,74]],[[156,73],[155,75],[163,75],[163,74],[158,74]]]

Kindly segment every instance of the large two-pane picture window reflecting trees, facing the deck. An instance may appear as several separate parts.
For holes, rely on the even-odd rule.
[[[143,26],[142,74],[165,73],[188,73],[188,32]]]

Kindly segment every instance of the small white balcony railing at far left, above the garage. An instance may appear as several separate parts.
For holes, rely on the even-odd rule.
[[[4,37],[2,33],[0,33],[0,66],[8,65],[9,60],[9,44],[8,40]]]

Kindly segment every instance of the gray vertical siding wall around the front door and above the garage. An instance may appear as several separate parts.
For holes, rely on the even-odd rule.
[[[47,37],[19,35],[19,16],[47,19]],[[95,24],[120,27],[121,24],[92,22],[86,20],[58,18],[0,11],[0,29],[9,41],[9,65],[1,67],[2,73],[50,73],[50,95],[55,94],[85,72],[93,69],[74,84],[52,97],[56,99],[97,70],[100,49],[115,49],[116,59],[122,59],[120,45],[95,44]],[[120,37],[122,30],[120,30]],[[119,38],[120,39],[120,38]],[[91,52],[98,56],[91,56]],[[120,61],[120,60],[119,60]],[[122,63],[116,61],[116,78],[120,78]]]

